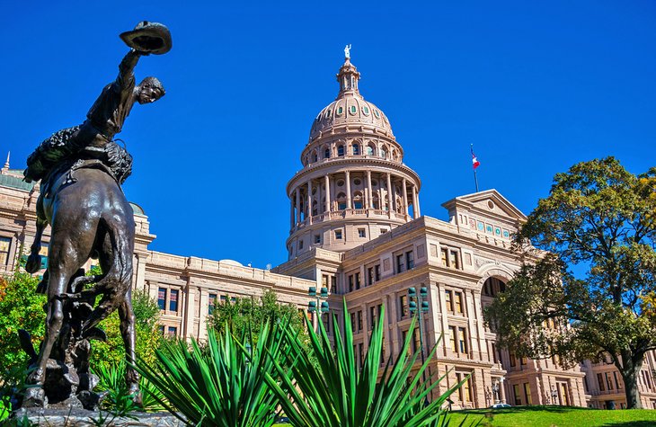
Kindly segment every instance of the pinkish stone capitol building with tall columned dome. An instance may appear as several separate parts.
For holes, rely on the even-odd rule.
[[[151,251],[148,245],[155,235],[149,219],[133,204],[133,287],[145,289],[158,301],[161,333],[203,340],[215,301],[257,297],[268,289],[280,302],[296,305],[315,325],[332,326],[328,314],[316,316],[308,310],[318,303],[308,289],[324,289],[327,296],[322,300],[331,313],[340,322],[350,316],[359,360],[381,313],[386,358],[402,350],[408,334],[412,349],[419,351],[423,344],[425,354],[439,342],[430,361],[431,373],[448,374],[439,392],[471,374],[451,396],[454,409],[498,401],[625,406],[623,381],[612,364],[586,360],[565,369],[557,358],[516,357],[496,345],[496,335],[483,322],[483,308],[519,270],[510,250],[511,236],[526,216],[495,190],[445,201],[448,221],[424,215],[420,176],[403,163],[403,147],[394,137],[391,120],[360,93],[360,75],[350,58],[339,68],[337,81],[337,97],[315,116],[300,152],[302,168],[287,185],[287,262],[261,270],[231,260]],[[38,195],[38,184],[23,182],[22,169],[11,169],[7,161],[0,173],[4,273],[14,271],[31,246]],[[48,240],[49,229],[43,237],[44,255]],[[418,298],[421,289],[425,294],[412,300],[411,288]],[[342,312],[343,298],[348,313]],[[410,308],[421,307],[421,302],[426,310],[420,336],[419,327],[410,330]],[[329,335],[332,332],[329,328]],[[656,354],[651,351],[638,376],[645,408],[656,409],[654,373]]]

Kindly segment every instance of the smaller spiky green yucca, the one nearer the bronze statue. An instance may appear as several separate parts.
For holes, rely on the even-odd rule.
[[[235,337],[229,328],[208,331],[207,347],[191,340],[165,342],[155,366],[137,361],[137,370],[157,387],[167,411],[185,423],[218,427],[269,427],[278,397],[263,374],[275,372],[274,360],[286,360],[281,346],[285,324],[262,325],[253,348],[248,331]],[[157,397],[155,396],[155,399]]]

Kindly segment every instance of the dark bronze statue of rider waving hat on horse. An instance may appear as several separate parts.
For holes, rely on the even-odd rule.
[[[132,156],[114,141],[135,102],[155,102],[164,87],[155,77],[135,85],[139,58],[171,49],[168,29],[140,22],[120,34],[131,48],[120,62],[119,76],[93,103],[79,126],[62,129],[28,157],[25,181],[40,181],[37,232],[25,269],[40,269],[43,229],[50,225],[48,270],[38,292],[48,296],[46,334],[40,351],[21,332],[31,357],[22,407],[84,406],[94,409],[102,396],[93,393],[97,378],[89,370],[90,340],[104,339],[97,325],[118,308],[126,359],[135,361],[135,317],[131,303],[133,211],[120,185],[132,169]],[[102,274],[82,269],[97,258]],[[93,283],[93,285],[92,285]],[[92,285],[89,287],[89,285]],[[100,302],[95,304],[96,297]],[[138,399],[138,375],[128,368],[129,392]]]

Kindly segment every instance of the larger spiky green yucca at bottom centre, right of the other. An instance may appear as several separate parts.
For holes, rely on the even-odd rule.
[[[348,313],[344,301],[344,313]],[[420,382],[434,355],[437,344],[421,368],[412,372],[419,352],[408,355],[412,334],[407,334],[403,350],[396,360],[387,360],[380,372],[383,345],[384,310],[371,333],[367,355],[358,368],[353,351],[353,334],[349,316],[344,316],[344,327],[333,317],[334,350],[322,322],[316,334],[308,322],[308,330],[318,369],[303,351],[296,332],[287,328],[285,345],[291,350],[288,365],[276,363],[278,375],[265,373],[269,386],[279,396],[280,405],[290,422],[303,427],[425,427],[446,423],[447,411],[442,409],[448,399],[465,380],[442,396],[428,397],[444,376]],[[414,330],[416,318],[410,330]],[[288,368],[290,367],[290,368]],[[292,376],[288,375],[291,369]],[[293,378],[292,378],[293,377]]]

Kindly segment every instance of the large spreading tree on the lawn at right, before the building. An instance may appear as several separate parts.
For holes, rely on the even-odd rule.
[[[629,408],[641,407],[637,375],[656,349],[644,309],[656,290],[654,176],[656,168],[635,176],[613,157],[556,174],[516,236],[525,263],[485,312],[519,355],[610,357]]]

